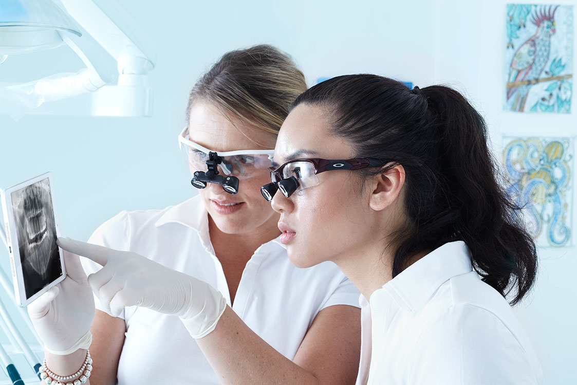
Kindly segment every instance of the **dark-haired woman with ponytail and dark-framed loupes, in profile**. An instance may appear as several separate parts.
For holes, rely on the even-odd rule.
[[[324,81],[293,104],[274,160],[263,195],[288,257],[334,261],[361,291],[359,384],[541,383],[505,299],[533,285],[535,245],[462,95]]]

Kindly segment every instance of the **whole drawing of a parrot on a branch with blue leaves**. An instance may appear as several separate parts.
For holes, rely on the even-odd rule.
[[[573,7],[507,5],[504,109],[570,113]]]

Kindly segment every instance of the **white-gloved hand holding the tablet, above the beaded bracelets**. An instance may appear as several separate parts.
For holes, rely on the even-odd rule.
[[[28,305],[36,332],[55,354],[68,354],[70,348],[80,347],[77,343],[89,344],[95,314],[94,297],[80,259],[66,251],[63,256],[66,278]]]

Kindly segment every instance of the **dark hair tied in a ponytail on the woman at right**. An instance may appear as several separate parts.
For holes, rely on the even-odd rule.
[[[462,240],[486,283],[504,297],[515,292],[511,304],[530,290],[537,272],[534,241],[497,181],[484,119],[459,92],[440,85],[411,91],[361,74],[317,84],[293,108],[301,103],[331,109],[332,133],[353,145],[355,158],[404,167],[407,223],[391,234],[393,277],[415,254]]]

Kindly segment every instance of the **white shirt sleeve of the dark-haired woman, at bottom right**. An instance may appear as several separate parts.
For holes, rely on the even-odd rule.
[[[492,312],[471,304],[449,308],[422,331],[409,383],[539,384],[527,352]]]

